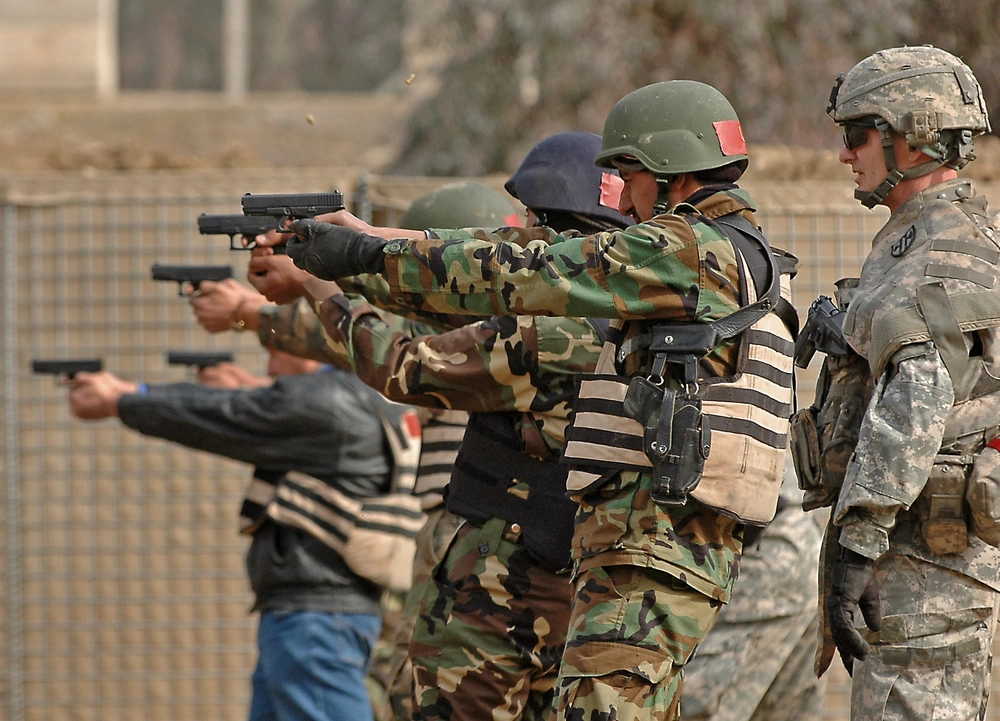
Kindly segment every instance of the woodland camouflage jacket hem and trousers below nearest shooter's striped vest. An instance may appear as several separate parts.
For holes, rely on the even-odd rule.
[[[677,718],[684,667],[729,599],[735,523],[696,501],[660,506],[650,484],[622,473],[579,499],[556,719]]]

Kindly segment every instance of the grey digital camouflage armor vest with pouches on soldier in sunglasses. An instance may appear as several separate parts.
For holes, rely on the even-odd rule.
[[[955,405],[912,522],[935,556],[961,553],[968,524],[1000,541],[1000,469],[984,448],[1000,433],[1000,244],[974,185],[952,180],[904,203],[876,237],[844,336],[881,376],[909,345],[932,341]]]

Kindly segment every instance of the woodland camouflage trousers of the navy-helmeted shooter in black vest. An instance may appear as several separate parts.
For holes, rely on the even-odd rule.
[[[520,540],[501,519],[466,522],[434,570],[410,643],[414,719],[548,715],[572,586]]]

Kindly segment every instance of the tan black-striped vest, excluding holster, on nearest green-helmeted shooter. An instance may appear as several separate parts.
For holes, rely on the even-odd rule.
[[[775,251],[776,257],[770,257],[772,251],[766,241],[741,216],[724,216],[716,223],[737,249],[744,289],[741,299],[744,307],[716,323],[725,326],[729,321],[736,327],[738,314],[750,317],[744,313],[750,310],[748,306],[756,305],[764,314],[756,313],[757,320],[749,328],[740,328],[733,335],[739,338],[735,374],[698,379],[694,384],[698,387],[693,395],[700,401],[701,418],[698,427],[689,433],[691,442],[687,445],[690,450],[685,452],[687,455],[680,459],[680,464],[703,464],[700,480],[696,480],[690,490],[692,498],[742,523],[763,526],[774,517],[777,508],[791,414],[793,337],[797,320],[788,299],[794,258],[781,251]],[[759,280],[759,273],[751,272],[749,265],[759,267],[762,257],[770,264],[767,281]],[[789,262],[782,263],[785,267],[779,269],[779,260],[786,259],[790,259]],[[751,278],[754,282],[750,282]],[[761,298],[757,297],[758,291]],[[785,320],[776,312],[767,312],[776,310],[779,304]],[[638,325],[647,334],[662,328],[651,321]],[[699,325],[708,324],[674,324],[672,327]],[[613,323],[619,331],[619,339],[623,326],[623,321]],[[730,336],[720,334],[720,338],[727,337]],[[667,344],[673,340],[672,332],[665,340]],[[656,343],[657,339],[652,342]],[[571,492],[592,490],[620,471],[650,473],[653,463],[647,446],[660,444],[666,435],[663,426],[666,424],[669,428],[671,425],[661,415],[657,436],[650,438],[649,424],[644,426],[627,412],[630,385],[634,387],[635,384],[623,377],[620,367],[616,366],[616,362],[625,363],[627,351],[612,338],[605,344],[595,374],[581,381],[563,454],[570,464],[567,488]],[[683,380],[676,370],[671,379],[675,383]],[[674,423],[683,422],[678,420],[681,417],[675,416]],[[693,416],[689,414],[688,417]],[[673,432],[677,438],[674,428],[668,432]],[[660,445],[660,448],[664,446],[666,453],[673,452],[671,443]]]

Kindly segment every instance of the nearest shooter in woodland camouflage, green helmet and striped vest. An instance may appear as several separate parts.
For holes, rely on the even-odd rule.
[[[638,225],[423,237],[310,220],[293,225],[289,254],[318,277],[382,273],[427,311],[616,319],[567,431],[576,595],[554,706],[566,719],[670,719],[730,599],[745,523],[775,512],[791,335],[747,331],[775,319],[778,271],[734,184],[746,145],[721,93],[691,81],[631,93],[597,162],[619,170],[619,210]],[[660,320],[669,329],[654,334]]]

